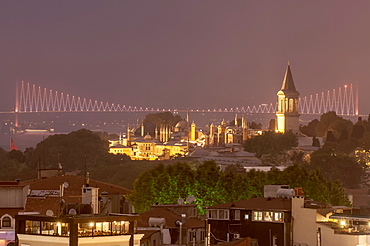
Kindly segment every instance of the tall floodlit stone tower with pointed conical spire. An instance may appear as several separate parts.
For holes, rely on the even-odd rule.
[[[289,130],[297,133],[299,131],[299,92],[295,88],[289,63],[285,72],[283,85],[277,93],[277,96],[278,109],[276,111],[276,130],[282,133]]]

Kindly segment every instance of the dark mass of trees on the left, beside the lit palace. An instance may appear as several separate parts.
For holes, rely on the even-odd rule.
[[[86,163],[91,178],[131,189],[136,177],[155,164],[108,153],[106,139],[112,137],[116,136],[82,129],[49,136],[35,149],[27,148],[23,153],[0,148],[0,180],[36,178],[37,168],[58,168],[58,163],[64,171],[84,175]]]

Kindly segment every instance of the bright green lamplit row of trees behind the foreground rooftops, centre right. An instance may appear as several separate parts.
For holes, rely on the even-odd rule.
[[[237,168],[221,171],[214,162],[204,162],[195,170],[186,163],[158,165],[142,173],[134,183],[129,199],[137,212],[144,212],[157,203],[176,203],[178,198],[196,197],[196,204],[204,206],[239,201],[263,196],[266,184],[288,184],[302,187],[306,197],[333,205],[349,205],[339,182],[329,181],[319,171],[310,172],[298,165],[284,171],[252,170],[238,172]]]

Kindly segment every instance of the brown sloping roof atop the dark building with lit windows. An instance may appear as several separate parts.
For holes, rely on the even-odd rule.
[[[256,209],[256,210],[263,210],[263,209],[273,209],[273,210],[285,210],[290,211],[292,208],[292,202],[290,199],[285,198],[251,198],[246,200],[241,200],[238,202],[230,202],[224,204],[217,204],[208,207],[210,209],[213,208],[240,208],[240,209]]]

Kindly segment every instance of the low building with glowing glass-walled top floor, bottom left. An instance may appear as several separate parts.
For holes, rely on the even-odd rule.
[[[138,215],[17,215],[17,245],[21,246],[139,246]]]

